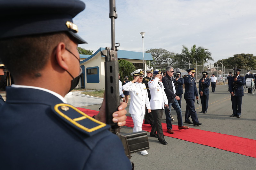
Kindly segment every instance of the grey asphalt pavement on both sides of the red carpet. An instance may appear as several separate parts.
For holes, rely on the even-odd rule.
[[[195,102],[198,119],[199,122],[202,123],[201,126],[193,126],[189,124],[184,125],[189,126],[190,128],[256,140],[256,94],[244,95],[241,118],[229,117],[233,112],[230,93],[227,92],[227,89],[227,85],[217,85],[216,91],[214,93],[210,93],[207,114],[199,113],[202,108]],[[184,122],[186,101],[184,96],[182,97],[182,118]],[[100,105],[97,104],[86,106],[84,108],[98,110],[99,106]],[[127,111],[128,108],[129,105],[127,107]],[[176,112],[173,109],[171,110],[171,114],[175,119],[175,121],[172,121],[172,124],[178,125]],[[130,116],[130,114],[128,113],[127,116]],[[165,115],[162,117],[162,122],[166,123]],[[121,130],[121,132],[132,132],[132,128],[122,128],[123,130]],[[182,133],[182,131],[180,133]],[[149,135],[149,132],[147,134]],[[135,169],[256,169],[256,159],[249,156],[201,144],[195,144],[172,137],[165,137],[165,140],[168,143],[167,145],[160,144],[158,140],[153,137],[148,137],[148,139],[150,145],[148,155],[143,156],[140,153],[132,154],[131,161],[135,164]]]

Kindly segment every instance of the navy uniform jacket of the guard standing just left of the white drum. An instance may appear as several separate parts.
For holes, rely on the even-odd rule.
[[[236,88],[235,87],[236,83]],[[228,90],[229,92],[234,92],[235,96],[244,96],[244,86],[246,81],[244,76],[238,76],[236,82],[234,81],[234,77],[231,77],[228,82]]]

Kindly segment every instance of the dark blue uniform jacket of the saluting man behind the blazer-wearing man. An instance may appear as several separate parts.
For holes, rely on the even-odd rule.
[[[195,99],[195,96],[198,96],[195,78],[191,77],[191,75],[187,75],[184,77],[184,84],[184,99]]]

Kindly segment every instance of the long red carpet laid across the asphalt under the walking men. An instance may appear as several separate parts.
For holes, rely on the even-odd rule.
[[[85,108],[78,109],[90,116],[96,115],[99,112]],[[131,117],[127,117],[126,126],[133,128],[133,121]],[[179,130],[178,126],[172,126],[172,130],[177,133],[171,135],[167,133],[166,123],[162,123],[165,136],[186,140],[197,144],[203,144],[206,146],[211,146],[225,151],[239,153],[256,158],[256,140],[193,128],[189,128],[187,130]],[[142,129],[148,132],[151,131],[149,124],[143,124]]]

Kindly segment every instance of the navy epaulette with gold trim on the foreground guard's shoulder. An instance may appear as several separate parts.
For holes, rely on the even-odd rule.
[[[62,121],[88,136],[93,136],[109,128],[105,123],[86,115],[69,104],[56,104],[52,110]]]

